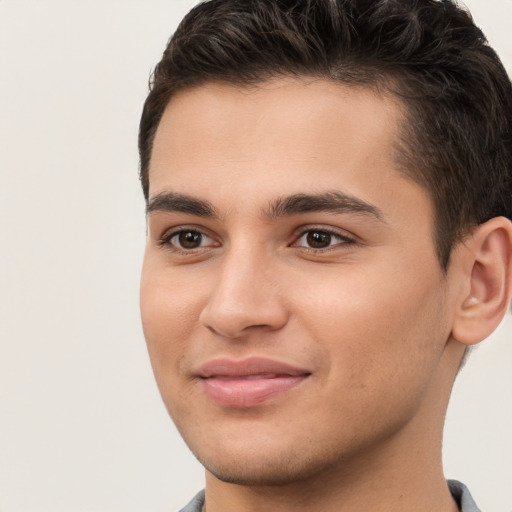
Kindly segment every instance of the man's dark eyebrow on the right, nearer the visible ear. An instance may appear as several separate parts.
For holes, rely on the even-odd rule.
[[[339,191],[320,194],[294,194],[271,201],[264,214],[270,219],[310,212],[353,213],[384,222],[382,211],[373,204]]]

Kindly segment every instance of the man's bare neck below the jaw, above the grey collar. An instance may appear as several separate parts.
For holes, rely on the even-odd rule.
[[[417,444],[402,457],[395,445],[287,485],[242,486],[207,473],[207,512],[456,512],[439,451]]]

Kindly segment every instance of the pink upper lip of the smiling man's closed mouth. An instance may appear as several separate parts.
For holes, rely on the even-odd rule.
[[[248,377],[251,375],[271,376],[300,376],[310,375],[311,372],[289,363],[267,359],[263,357],[250,357],[234,360],[229,358],[212,359],[203,364],[197,372],[199,377]]]

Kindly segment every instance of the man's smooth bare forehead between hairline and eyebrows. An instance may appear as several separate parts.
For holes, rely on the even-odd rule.
[[[319,79],[186,89],[172,97],[155,135],[150,196],[256,198],[255,187],[317,187],[364,198],[403,179],[395,160],[402,118],[391,96]]]

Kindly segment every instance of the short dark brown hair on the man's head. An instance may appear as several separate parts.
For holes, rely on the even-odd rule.
[[[446,269],[456,241],[512,218],[512,86],[452,0],[210,0],[170,39],[140,122],[146,200],[153,138],[171,96],[206,82],[311,76],[390,91],[406,107],[403,170],[429,190]]]

